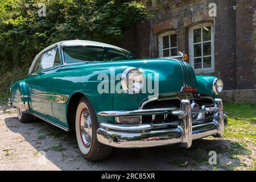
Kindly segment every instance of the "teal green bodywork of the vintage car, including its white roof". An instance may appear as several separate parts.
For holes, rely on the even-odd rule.
[[[122,74],[127,68],[137,68],[145,75],[158,73],[157,96],[180,94],[183,88],[196,88],[197,94],[203,94],[211,100],[217,98],[214,93],[214,76],[196,76],[191,65],[174,58],[128,59],[92,61],[90,63],[65,63],[63,48],[76,45],[92,44],[99,47],[111,47],[132,55],[129,51],[108,44],[66,41],[53,44],[35,57],[30,73],[24,80],[15,82],[11,87],[11,102],[14,107],[22,108],[36,117],[52,123],[61,129],[71,130],[74,122],[72,112],[76,109],[81,96],[88,98],[97,114],[98,125],[110,123],[115,125],[115,117],[99,114],[104,111],[138,110],[147,98],[154,97],[149,93],[99,93],[97,88],[102,82],[98,75],[108,77]],[[33,73],[36,61],[49,49],[59,49],[60,64],[43,71]],[[120,79],[121,80],[121,79]],[[109,85],[117,85],[120,80],[111,80]],[[154,82],[154,77],[152,77]],[[76,103],[76,104],[72,104]]]

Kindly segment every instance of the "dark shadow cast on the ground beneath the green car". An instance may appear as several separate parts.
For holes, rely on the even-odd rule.
[[[177,144],[139,149],[114,148],[108,159],[88,162],[80,155],[75,133],[63,131],[40,119],[20,123],[17,117],[10,117],[4,121],[10,131],[22,135],[28,146],[34,148],[34,154],[35,151],[44,152],[51,166],[61,170],[212,170],[214,167],[232,169],[241,164],[235,156],[246,153],[246,148],[236,142],[210,137],[193,141],[190,149],[181,148]],[[215,166],[209,164],[210,151],[216,151]],[[38,157],[34,156],[28,160],[38,160]],[[227,166],[226,163],[230,162],[232,165]],[[40,165],[43,164],[38,165],[35,169],[41,169]]]

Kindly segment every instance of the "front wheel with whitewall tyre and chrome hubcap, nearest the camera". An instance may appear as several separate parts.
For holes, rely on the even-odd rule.
[[[108,158],[112,147],[97,140],[98,120],[90,102],[82,97],[76,110],[76,138],[82,156],[89,161]]]

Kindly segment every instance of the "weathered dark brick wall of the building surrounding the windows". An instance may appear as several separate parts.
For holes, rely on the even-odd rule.
[[[128,31],[130,36],[125,36],[118,46],[133,51],[137,58],[159,57],[158,36],[163,32],[176,30],[179,51],[189,54],[189,28],[213,22],[214,72],[207,75],[222,78],[225,90],[256,88],[256,0],[142,2],[154,11],[154,18],[136,24]],[[217,16],[214,18],[208,15],[209,3],[217,5]],[[233,93],[230,97],[233,101],[236,100],[235,97],[243,97],[242,94]]]

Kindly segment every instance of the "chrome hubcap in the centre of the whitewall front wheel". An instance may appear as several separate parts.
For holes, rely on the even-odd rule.
[[[88,110],[84,110],[80,117],[80,131],[82,143],[86,148],[90,147],[92,143],[92,121]]]

